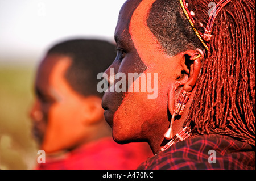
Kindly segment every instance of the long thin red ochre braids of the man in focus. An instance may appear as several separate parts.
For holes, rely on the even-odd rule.
[[[202,33],[211,2],[186,1]],[[184,126],[193,135],[222,134],[255,146],[255,1],[230,1],[212,35]]]

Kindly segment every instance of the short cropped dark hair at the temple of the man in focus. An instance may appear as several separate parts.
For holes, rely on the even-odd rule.
[[[178,0],[155,1],[147,25],[170,56],[189,49],[204,48],[185,18]]]

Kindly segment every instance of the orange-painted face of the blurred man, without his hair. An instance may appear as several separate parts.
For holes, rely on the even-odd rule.
[[[74,91],[64,78],[71,61],[67,56],[48,55],[36,76],[36,100],[30,115],[34,134],[46,153],[76,148],[92,137],[86,130],[89,98]]]

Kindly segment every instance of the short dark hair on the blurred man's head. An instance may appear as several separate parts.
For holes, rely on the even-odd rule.
[[[72,58],[65,73],[69,85],[83,96],[102,97],[97,91],[97,74],[104,72],[115,59],[115,45],[96,39],[67,40],[54,45],[47,54],[61,54]]]

